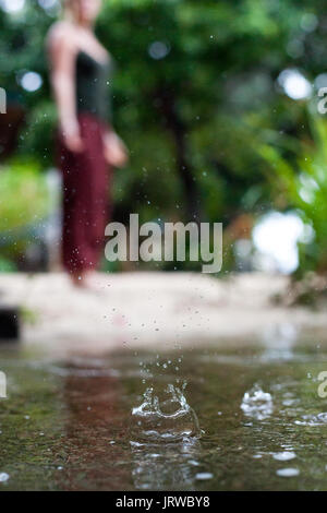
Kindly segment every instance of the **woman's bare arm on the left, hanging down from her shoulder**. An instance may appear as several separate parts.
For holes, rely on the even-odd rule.
[[[64,24],[52,28],[48,39],[51,65],[50,80],[58,107],[59,122],[65,145],[81,152],[83,142],[76,115],[75,59],[76,48],[70,27]]]

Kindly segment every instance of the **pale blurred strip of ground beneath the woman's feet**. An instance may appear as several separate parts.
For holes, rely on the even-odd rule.
[[[283,276],[217,279],[193,273],[99,274],[99,293],[73,288],[64,274],[1,274],[0,300],[23,307],[23,342],[51,351],[232,344],[271,330],[327,327],[325,312],[282,308],[271,297]],[[29,318],[29,320],[28,320]],[[35,318],[31,322],[31,318]]]

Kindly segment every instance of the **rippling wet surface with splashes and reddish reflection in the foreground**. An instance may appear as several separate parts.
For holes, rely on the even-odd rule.
[[[235,347],[53,360],[3,346],[0,489],[326,490],[327,345]]]

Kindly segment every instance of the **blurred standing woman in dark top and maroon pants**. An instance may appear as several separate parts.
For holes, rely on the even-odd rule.
[[[125,146],[106,122],[111,59],[93,29],[100,7],[100,0],[66,0],[64,20],[48,35],[63,174],[62,258],[78,286],[92,284],[100,259],[108,168],[126,162]]]

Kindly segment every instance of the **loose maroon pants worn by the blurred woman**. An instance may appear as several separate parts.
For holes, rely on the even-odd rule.
[[[108,181],[104,156],[105,123],[89,114],[78,116],[83,152],[59,142],[63,175],[62,261],[66,271],[95,269],[100,260],[108,218]]]

